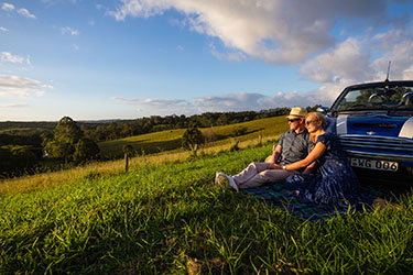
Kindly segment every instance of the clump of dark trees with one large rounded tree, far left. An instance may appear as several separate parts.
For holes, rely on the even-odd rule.
[[[41,134],[0,134],[0,178],[33,174],[44,158],[58,164],[80,164],[99,157],[96,142],[87,139],[69,117],[64,117],[53,132]]]

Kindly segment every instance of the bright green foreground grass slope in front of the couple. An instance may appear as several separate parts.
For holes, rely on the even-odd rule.
[[[309,222],[213,185],[272,143],[2,193],[0,274],[406,274],[413,198]],[[19,186],[17,186],[19,188]]]

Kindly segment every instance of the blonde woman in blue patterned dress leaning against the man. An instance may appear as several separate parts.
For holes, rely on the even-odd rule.
[[[291,175],[285,180],[285,188],[313,202],[348,208],[355,202],[359,183],[339,141],[334,134],[325,132],[326,119],[322,113],[308,113],[305,125],[314,143],[313,151],[302,161],[276,168],[296,170],[316,162],[318,169],[316,174]]]

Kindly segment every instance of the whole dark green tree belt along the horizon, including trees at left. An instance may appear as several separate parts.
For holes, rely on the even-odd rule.
[[[318,106],[307,107],[314,111]],[[206,112],[191,117],[152,116],[111,122],[75,122],[69,117],[56,122],[0,123],[0,178],[34,173],[45,162],[78,165],[99,160],[98,142],[172,129],[187,129],[183,147],[194,150],[199,143],[198,128],[210,128],[257,119],[286,116],[290,108],[243,112]],[[19,131],[19,127],[22,130]],[[30,127],[33,127],[30,129]],[[28,130],[29,128],[29,130]],[[24,129],[24,131],[23,131]],[[23,134],[22,134],[23,133]]]

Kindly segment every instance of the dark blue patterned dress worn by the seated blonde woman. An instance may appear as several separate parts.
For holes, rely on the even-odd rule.
[[[309,201],[348,208],[356,202],[359,183],[351,169],[337,138],[325,133],[317,141],[326,146],[324,154],[317,160],[319,166],[314,175],[295,174],[285,180],[285,188]]]

